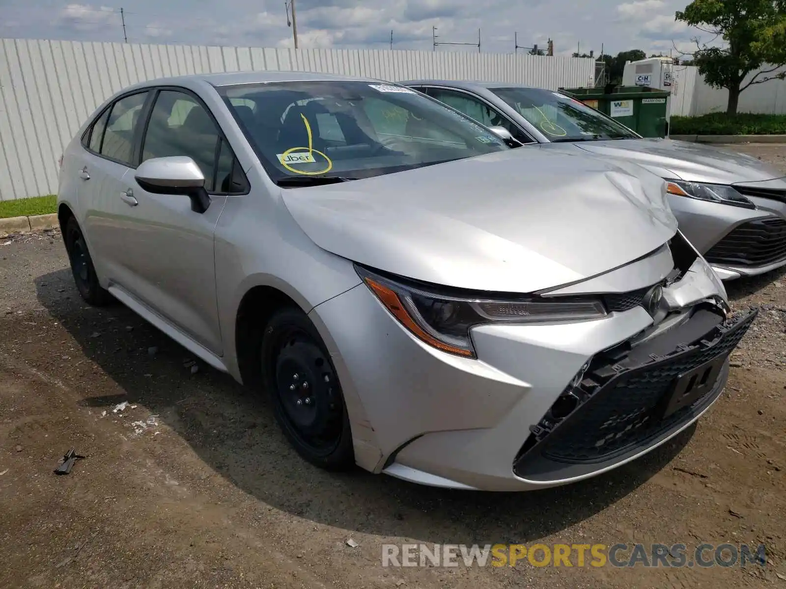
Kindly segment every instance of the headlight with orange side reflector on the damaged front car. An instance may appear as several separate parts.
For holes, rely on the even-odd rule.
[[[436,287],[404,284],[355,265],[363,282],[421,341],[458,356],[475,357],[469,330],[481,324],[577,321],[606,315],[597,298],[527,297],[506,300],[443,294]]]

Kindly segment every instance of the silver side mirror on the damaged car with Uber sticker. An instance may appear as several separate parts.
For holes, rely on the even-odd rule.
[[[145,160],[134,173],[134,179],[142,189],[153,194],[188,196],[191,210],[195,213],[204,213],[210,207],[210,196],[204,189],[204,174],[188,156]]]

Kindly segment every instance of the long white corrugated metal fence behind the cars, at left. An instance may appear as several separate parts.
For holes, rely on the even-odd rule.
[[[587,86],[591,59],[496,53],[265,49],[0,40],[0,200],[57,191],[57,159],[98,104],[147,79],[285,70]]]

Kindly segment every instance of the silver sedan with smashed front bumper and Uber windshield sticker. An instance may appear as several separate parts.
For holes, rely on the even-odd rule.
[[[635,459],[722,392],[755,312],[729,316],[665,189],[403,86],[259,72],[109,99],[58,214],[86,302],[265,393],[311,463],[516,490]]]

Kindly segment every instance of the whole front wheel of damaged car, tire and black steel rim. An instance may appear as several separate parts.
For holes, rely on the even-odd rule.
[[[314,324],[300,309],[281,309],[262,339],[262,382],[276,420],[299,455],[325,470],[354,465],[341,385]]]

